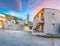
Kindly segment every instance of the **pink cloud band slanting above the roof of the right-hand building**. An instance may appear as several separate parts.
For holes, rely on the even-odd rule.
[[[44,0],[41,5],[33,8],[33,15],[36,15],[42,8],[56,8],[57,5],[56,7],[54,7],[54,5],[57,4],[57,2],[60,2],[60,0]]]

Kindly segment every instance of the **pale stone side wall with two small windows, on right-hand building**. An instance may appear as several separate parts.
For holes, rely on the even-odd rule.
[[[56,9],[44,10],[44,32],[51,34],[59,33],[60,11]]]

